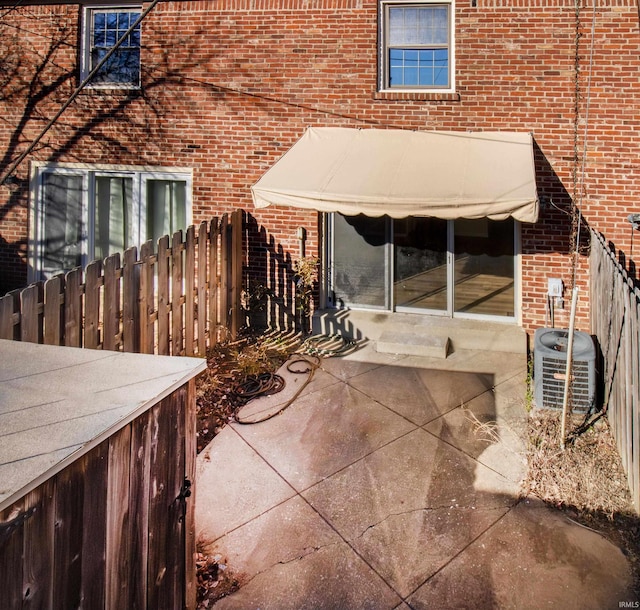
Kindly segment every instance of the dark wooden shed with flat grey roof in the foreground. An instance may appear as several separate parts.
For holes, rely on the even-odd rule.
[[[206,362],[0,340],[0,607],[195,607]]]

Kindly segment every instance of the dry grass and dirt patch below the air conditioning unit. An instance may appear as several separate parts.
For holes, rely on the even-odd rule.
[[[640,519],[607,419],[571,417],[564,449],[560,430],[559,411],[530,413],[524,493],[618,546],[631,563],[635,593],[640,596]]]

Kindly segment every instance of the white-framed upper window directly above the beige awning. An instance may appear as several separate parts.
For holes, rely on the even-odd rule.
[[[453,3],[381,3],[380,89],[453,91]]]

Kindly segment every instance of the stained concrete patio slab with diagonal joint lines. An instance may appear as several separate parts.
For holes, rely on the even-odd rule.
[[[199,544],[262,610],[618,608],[622,552],[522,499],[526,357],[326,358],[283,413],[199,455]]]

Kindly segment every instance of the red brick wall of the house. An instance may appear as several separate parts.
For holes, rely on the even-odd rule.
[[[78,5],[13,4],[0,3],[2,176],[78,84]],[[522,228],[523,325],[545,324],[548,277],[573,285],[575,200],[588,331],[588,227],[635,256],[636,2],[457,0],[454,19],[455,94],[393,94],[377,93],[376,0],[160,2],[143,23],[142,90],[81,93],[0,186],[2,288],[27,280],[32,160],[193,168],[194,221],[246,209],[295,258],[300,226],[318,252],[318,215],[254,210],[250,186],[307,126],[530,131],[542,206]]]

